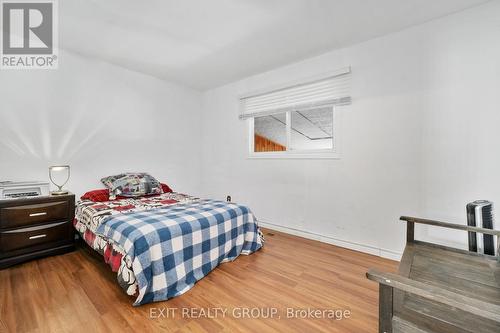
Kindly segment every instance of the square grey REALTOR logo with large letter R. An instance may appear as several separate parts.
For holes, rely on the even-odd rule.
[[[55,0],[1,0],[2,69],[56,69]]]

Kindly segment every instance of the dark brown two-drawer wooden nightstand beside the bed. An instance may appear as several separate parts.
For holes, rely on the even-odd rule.
[[[0,200],[0,269],[74,249],[75,195]]]

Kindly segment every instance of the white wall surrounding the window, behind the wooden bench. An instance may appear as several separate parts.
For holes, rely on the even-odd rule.
[[[464,223],[465,204],[500,203],[500,3],[253,76],[204,94],[202,190],[267,223],[397,257],[400,215]],[[352,66],[340,160],[248,159],[238,96]],[[464,246],[465,235],[418,228]]]

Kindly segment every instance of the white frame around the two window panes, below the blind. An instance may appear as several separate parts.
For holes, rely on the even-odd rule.
[[[322,106],[323,107],[323,106]],[[340,159],[340,126],[339,112],[335,105],[325,105],[332,107],[333,113],[333,148],[314,150],[289,150],[292,134],[291,113],[294,111],[311,110],[318,107],[290,110],[286,113],[286,149],[285,151],[255,152],[255,118],[247,119],[248,122],[248,158],[250,159]]]

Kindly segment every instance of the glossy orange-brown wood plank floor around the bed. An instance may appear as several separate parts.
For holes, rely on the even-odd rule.
[[[262,250],[220,265],[184,295],[140,307],[85,249],[2,270],[0,332],[377,332],[378,286],[365,272],[395,272],[397,262],[276,231],[265,235]],[[243,308],[260,318],[238,318]],[[299,315],[349,310],[350,317],[287,318],[287,308],[304,309]],[[272,311],[280,318],[265,318]]]

